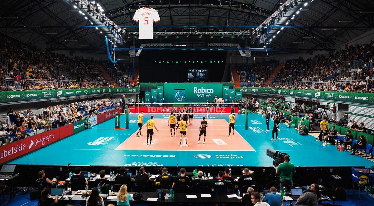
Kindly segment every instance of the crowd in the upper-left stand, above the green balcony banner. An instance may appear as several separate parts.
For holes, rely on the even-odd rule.
[[[107,61],[70,58],[4,36],[0,39],[0,91],[114,87],[98,68],[100,64],[110,65]],[[122,77],[121,81],[128,81],[127,65],[115,73],[109,66],[104,68],[110,75]]]

